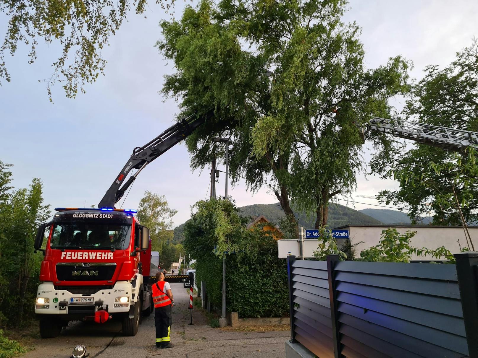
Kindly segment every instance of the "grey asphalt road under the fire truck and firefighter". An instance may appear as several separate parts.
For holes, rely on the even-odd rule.
[[[288,331],[242,332],[211,328],[199,310],[193,310],[193,325],[189,325],[189,295],[183,284],[171,284],[175,306],[171,342],[174,348],[155,347],[154,315],[144,317],[135,337],[121,335],[121,322],[70,323],[57,338],[37,339],[35,349],[25,354],[27,358],[71,356],[73,347],[81,343],[87,347],[89,358],[139,358],[139,357],[285,357],[284,342]],[[32,329],[38,329],[36,326]]]

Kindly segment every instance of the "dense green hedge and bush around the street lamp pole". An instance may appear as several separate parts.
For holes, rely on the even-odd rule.
[[[233,201],[198,201],[193,208],[183,243],[196,259],[197,280],[206,284],[212,307],[221,306],[222,256],[228,252],[228,309],[247,317],[287,312],[287,271],[277,243],[262,230],[246,229],[248,219],[239,216]]]

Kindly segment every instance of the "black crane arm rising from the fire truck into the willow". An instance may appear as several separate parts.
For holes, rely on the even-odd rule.
[[[98,204],[98,208],[113,208],[144,167],[193,133],[198,126],[214,116],[214,112],[210,111],[197,118],[196,116],[196,114],[193,114],[181,120],[144,146],[134,148],[133,154],[106,191],[103,199]],[[126,179],[132,169],[138,170],[123,184],[123,180]]]

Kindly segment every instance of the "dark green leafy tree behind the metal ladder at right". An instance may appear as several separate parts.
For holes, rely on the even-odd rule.
[[[424,78],[413,87],[407,101],[408,119],[434,126],[478,131],[478,42],[456,54],[449,66],[430,65]],[[467,158],[468,156],[468,158]],[[470,158],[471,157],[471,158]],[[432,164],[433,163],[433,164]],[[461,225],[478,220],[476,155],[457,154],[440,148],[415,144],[383,176],[393,174],[399,190],[384,190],[379,199],[410,208],[413,220],[434,213],[435,225]],[[415,185],[412,185],[412,184]],[[456,205],[456,198],[460,205]]]

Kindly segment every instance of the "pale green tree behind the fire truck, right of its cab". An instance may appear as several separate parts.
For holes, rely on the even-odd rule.
[[[169,207],[164,195],[145,191],[136,214],[141,224],[150,229],[152,251],[159,252],[160,266],[166,269],[177,262],[180,253],[184,252],[183,245],[174,243],[173,231],[169,230],[176,213]]]

